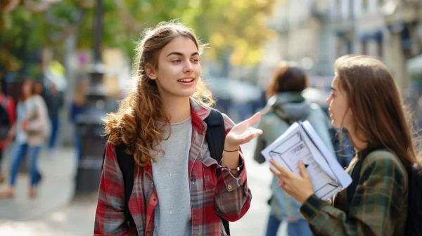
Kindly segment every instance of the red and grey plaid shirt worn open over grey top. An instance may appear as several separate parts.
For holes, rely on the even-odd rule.
[[[192,235],[226,235],[219,216],[237,221],[250,207],[252,195],[246,180],[246,169],[238,177],[222,171],[217,179],[217,161],[210,157],[205,140],[207,126],[203,121],[210,110],[191,100],[192,143],[189,151],[188,174],[191,192]],[[226,133],[234,122],[225,114]],[[241,154],[241,161],[243,156]],[[153,235],[154,209],[158,204],[152,166],[136,166],[134,188],[129,199],[129,210],[138,235]],[[124,221],[124,185],[113,145],[108,144],[98,193],[94,235],[127,235]],[[174,225],[177,227],[177,225]]]

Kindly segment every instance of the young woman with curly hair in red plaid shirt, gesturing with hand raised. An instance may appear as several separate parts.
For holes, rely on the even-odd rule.
[[[260,113],[237,125],[223,114],[224,168],[217,178],[219,165],[205,140],[213,100],[200,77],[202,49],[178,23],[147,30],[137,45],[134,91],[105,119],[95,235],[226,235],[219,217],[237,221],[248,211],[252,195],[239,145],[262,133],[251,127]],[[136,163],[131,219],[115,154],[120,144]]]

